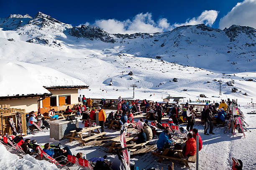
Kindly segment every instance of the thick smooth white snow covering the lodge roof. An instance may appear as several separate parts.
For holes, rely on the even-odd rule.
[[[0,60],[0,63],[0,96],[50,94],[43,86],[86,85],[49,67],[10,60]]]

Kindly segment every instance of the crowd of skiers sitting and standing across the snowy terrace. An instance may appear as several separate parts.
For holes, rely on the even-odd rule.
[[[97,119],[99,125],[101,126],[101,132],[105,131],[105,126],[110,124],[112,120],[115,120],[114,123],[118,125],[118,127],[113,128],[118,128],[121,130],[124,128],[127,129],[128,126],[131,126],[133,122],[136,122],[134,120],[133,113],[144,111],[150,115],[148,116],[148,119],[143,120],[141,117],[138,122],[136,122],[135,128],[138,130],[138,136],[134,141],[136,144],[145,143],[146,141],[152,140],[153,137],[156,136],[156,128],[158,128],[161,130],[161,133],[159,133],[159,137],[156,137],[158,138],[157,153],[163,152],[165,148],[174,146],[174,148],[179,148],[179,150],[182,150],[184,158],[188,159],[190,156],[193,156],[196,153],[197,136],[199,140],[199,151],[202,149],[201,136],[198,134],[198,129],[194,128],[195,117],[197,117],[198,112],[192,105],[189,105],[188,102],[182,107],[179,102],[171,104],[167,102],[164,105],[162,103],[155,102],[153,105],[146,99],[126,101],[119,97],[117,101],[111,100],[110,102],[106,102],[106,100],[102,99],[100,102],[103,107],[108,108],[113,105],[117,106],[117,110],[115,112],[110,112],[108,117],[106,116],[106,112],[103,108],[92,107],[92,100],[90,98],[86,99],[84,95],[80,95],[79,102],[82,102],[82,104],[74,105],[72,108],[69,108],[68,106],[65,112],[71,114],[71,112],[75,111],[77,116],[82,116],[82,123],[84,123],[84,128],[89,128],[96,125],[96,112],[98,112]],[[230,105],[230,100],[228,100],[227,103]],[[207,103],[206,107],[201,112],[201,120],[205,122],[205,135],[214,134],[213,120],[215,120],[216,123],[222,124],[225,119],[227,119],[228,114],[226,114],[226,111],[228,109],[228,105],[225,103],[225,100],[222,100],[220,103]],[[54,108],[49,111],[48,116],[55,118],[56,120],[59,118],[59,115],[56,114]],[[167,127],[163,127],[161,124],[163,117],[168,117]],[[152,120],[155,126],[148,123],[148,120]],[[40,112],[37,114],[35,112],[27,114],[26,121],[29,128],[36,128],[33,122],[35,122],[41,128],[49,128],[49,123],[45,120],[44,115],[42,115]],[[182,123],[187,123],[186,130],[184,130],[182,127],[179,127],[179,125]],[[173,126],[179,127],[182,133],[186,136],[185,138],[182,138],[182,140],[185,142],[180,146],[179,143],[175,143],[175,141],[172,139],[172,135],[175,132],[172,128]],[[208,129],[210,129],[209,133]],[[37,154],[38,150],[36,147],[38,145],[35,140],[30,140],[27,138],[24,141],[22,137],[16,136],[15,133],[10,136],[7,134],[3,135],[2,132],[0,133],[0,139],[6,136],[14,143],[18,143],[25,153],[29,155]],[[60,158],[60,156],[67,157],[67,155],[72,155],[67,146],[61,149],[60,145],[55,146],[46,143],[43,150],[52,158]],[[122,164],[120,163],[121,155],[119,151],[115,152],[116,158],[112,163],[106,160],[106,156],[100,158],[91,158],[89,159],[90,163],[95,166],[97,161],[101,161],[105,162],[113,170],[120,170],[119,164]],[[170,156],[173,155],[172,152],[168,154]],[[77,153],[76,157],[83,158],[82,153]],[[118,159],[119,162],[116,159]]]

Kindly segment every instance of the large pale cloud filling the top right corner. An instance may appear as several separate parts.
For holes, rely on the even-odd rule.
[[[242,25],[256,28],[256,0],[238,2],[231,11],[220,19],[220,29],[229,28],[231,25]]]

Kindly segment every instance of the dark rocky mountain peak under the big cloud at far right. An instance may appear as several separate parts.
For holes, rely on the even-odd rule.
[[[256,30],[246,26],[231,25],[230,28],[225,28],[223,31],[225,31],[230,41],[235,41],[241,33],[248,35],[248,37],[256,37]]]

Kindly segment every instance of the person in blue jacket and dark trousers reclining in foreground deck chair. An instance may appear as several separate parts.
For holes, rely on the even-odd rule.
[[[49,143],[44,145],[44,152],[47,153],[51,158],[57,158],[61,155],[67,157],[67,155],[72,155],[69,147],[64,147],[63,149],[53,149]]]

